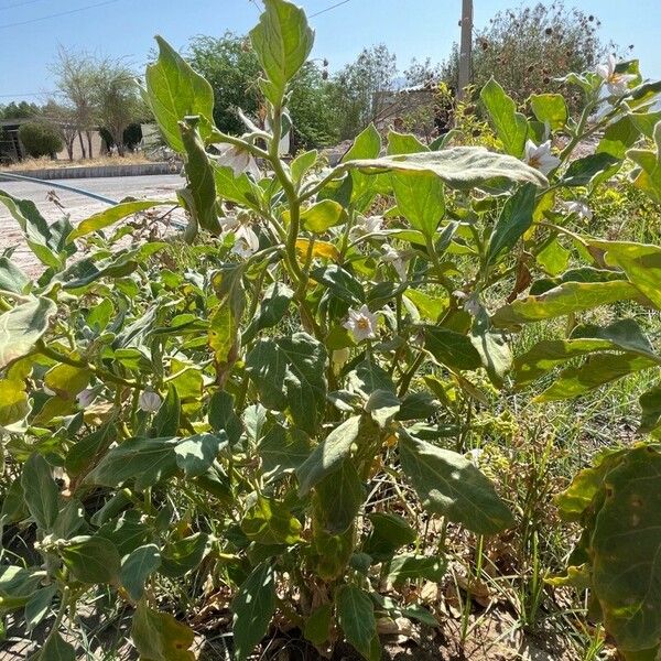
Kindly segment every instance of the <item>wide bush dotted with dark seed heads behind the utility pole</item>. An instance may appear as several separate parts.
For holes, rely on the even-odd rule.
[[[561,0],[499,11],[473,47],[473,82],[481,87],[494,76],[516,99],[559,88],[554,78],[593,68],[606,53],[598,36],[600,23]],[[458,84],[455,46],[444,66],[446,82]]]

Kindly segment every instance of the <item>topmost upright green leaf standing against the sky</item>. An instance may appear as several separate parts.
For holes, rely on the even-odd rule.
[[[267,75],[266,97],[281,107],[290,80],[303,66],[314,43],[305,12],[285,0],[264,0],[266,11],[250,31],[250,41]]]

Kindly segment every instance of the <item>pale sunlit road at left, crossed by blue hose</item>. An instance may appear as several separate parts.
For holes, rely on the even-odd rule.
[[[66,180],[54,183],[83,188],[119,202],[129,195],[139,199],[175,199],[174,192],[183,185],[183,181],[178,175],[149,175]],[[74,225],[108,208],[108,205],[77,193],[56,189],[48,185],[51,183],[11,182],[0,177],[0,191],[21,199],[32,199],[44,218],[50,221],[62,218],[63,214],[57,205],[48,199],[51,192],[56,193],[59,204],[64,206],[65,213],[69,214]],[[13,246],[19,247],[14,253],[15,260],[28,270],[33,271],[36,263],[29,249],[24,248],[20,228],[4,205],[0,204],[0,253],[6,248]]]

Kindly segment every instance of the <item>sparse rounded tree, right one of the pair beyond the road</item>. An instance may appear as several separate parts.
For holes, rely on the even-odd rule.
[[[110,134],[119,155],[123,156],[124,131],[140,118],[143,107],[134,74],[121,61],[99,62],[94,77],[94,90],[99,123]]]

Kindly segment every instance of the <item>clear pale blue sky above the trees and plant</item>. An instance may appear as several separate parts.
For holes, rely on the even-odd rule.
[[[313,14],[338,1],[299,3]],[[36,95],[53,88],[48,63],[58,44],[127,56],[140,69],[154,34],[181,48],[195,34],[243,33],[256,22],[257,4],[259,0],[0,0],[0,104],[23,98],[40,101]],[[498,10],[518,4],[519,0],[475,0],[475,24],[485,25]],[[622,46],[633,43],[643,73],[661,78],[659,0],[567,0],[566,4],[597,15],[606,40]],[[65,11],[72,13],[34,21]],[[311,19],[316,30],[314,55],[327,57],[336,69],[362,46],[384,42],[397,53],[401,68],[412,57],[441,61],[458,39],[459,14],[460,0],[349,0]]]

